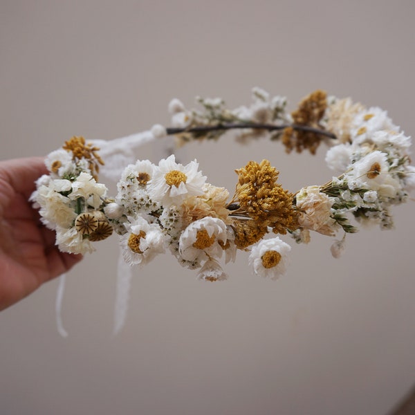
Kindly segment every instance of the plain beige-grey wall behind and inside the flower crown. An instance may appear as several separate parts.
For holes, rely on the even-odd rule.
[[[168,124],[174,97],[249,104],[252,86],[291,108],[317,88],[351,96],[414,133],[414,12],[412,0],[1,0],[1,158]],[[324,148],[223,138],[181,158],[231,191],[251,159],[293,191],[331,177]],[[68,275],[67,339],[56,281],[1,313],[1,414],[387,414],[415,380],[413,212],[352,235],[338,260],[313,235],[278,282],[252,277],[243,253],[221,284],[160,257],[135,271],[116,338],[117,239],[104,241]]]

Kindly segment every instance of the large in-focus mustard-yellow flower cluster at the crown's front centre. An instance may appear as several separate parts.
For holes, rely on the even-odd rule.
[[[286,234],[298,228],[293,194],[277,183],[279,172],[268,160],[250,161],[246,167],[235,170],[239,176],[235,196],[229,206],[237,205],[232,216],[238,248],[252,245],[261,239],[267,228]]]

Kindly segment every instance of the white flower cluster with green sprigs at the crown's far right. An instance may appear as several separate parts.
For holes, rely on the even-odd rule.
[[[335,101],[333,107],[339,102],[342,100]],[[348,108],[353,113],[347,122],[342,120],[342,131],[348,131],[348,139],[334,140],[326,154],[327,165],[339,174],[322,187],[333,203],[331,217],[346,232],[357,230],[346,217],[349,213],[364,224],[390,229],[394,225],[391,205],[407,201],[414,189],[411,139],[378,107],[367,109],[349,103]],[[331,113],[330,107],[327,113]],[[338,129],[335,122],[328,124],[333,131]]]

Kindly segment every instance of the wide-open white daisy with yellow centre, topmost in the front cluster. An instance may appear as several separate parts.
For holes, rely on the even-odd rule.
[[[198,170],[196,160],[187,165],[176,163],[174,154],[163,158],[158,163],[149,187],[149,195],[165,208],[170,205],[181,205],[188,196],[203,194],[206,176]]]

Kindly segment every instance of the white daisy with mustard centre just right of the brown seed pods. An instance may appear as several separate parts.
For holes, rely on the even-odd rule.
[[[165,251],[165,237],[160,227],[141,216],[124,223],[127,233],[120,237],[122,257],[129,265],[147,264]]]

